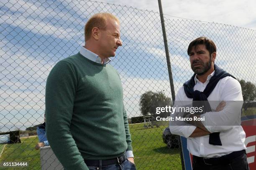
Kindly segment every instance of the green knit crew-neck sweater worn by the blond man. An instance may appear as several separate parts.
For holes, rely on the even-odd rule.
[[[112,159],[132,150],[123,89],[113,66],[80,53],[59,61],[46,83],[46,135],[66,170],[83,159]]]

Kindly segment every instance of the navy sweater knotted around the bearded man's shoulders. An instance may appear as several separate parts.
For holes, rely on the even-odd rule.
[[[201,105],[204,105],[204,113],[212,111],[207,98],[208,98],[208,96],[210,96],[213,89],[218,84],[219,80],[223,79],[226,76],[231,76],[234,79],[236,79],[234,76],[227,73],[223,69],[220,69],[215,64],[214,64],[214,70],[215,70],[215,74],[211,77],[209,83],[207,84],[207,86],[205,87],[205,90],[203,92],[198,91],[198,90],[194,91],[196,74],[194,74],[191,77],[191,79],[189,81],[187,81],[186,83],[184,83],[184,85],[183,85],[185,94],[188,98],[193,98],[193,101],[205,101],[205,102],[201,103]],[[198,102],[197,102],[197,104],[198,104]],[[195,104],[193,103],[193,107],[201,107],[201,106],[195,106]],[[221,140],[220,140],[220,132],[215,132],[215,133],[210,134],[209,144],[222,145]]]

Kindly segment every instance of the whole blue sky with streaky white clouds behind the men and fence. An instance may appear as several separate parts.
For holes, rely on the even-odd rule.
[[[172,9],[177,5],[185,8],[186,5],[182,5],[185,1],[181,2],[180,5],[171,5],[163,1],[164,13],[175,15],[169,11],[177,11]],[[130,5],[155,12],[88,1],[56,0],[43,4],[33,0],[1,1],[0,127],[3,124],[43,122],[45,84],[49,71],[56,62],[77,53],[84,45],[84,24],[98,12],[113,13],[121,21],[123,46],[118,48],[111,64],[121,76],[128,116],[140,115],[138,101],[141,94],[148,90],[164,91],[171,97],[157,1],[136,3],[131,0]],[[202,8],[200,13],[205,10]],[[183,11],[177,16],[189,18],[186,13]],[[251,18],[251,15],[245,17]],[[194,13],[191,13],[192,16]],[[252,64],[256,63],[254,30],[168,15],[165,19],[176,91],[192,76],[186,50],[189,42],[199,36],[208,36],[215,41],[217,63],[221,67],[239,79],[256,83],[256,66]],[[237,25],[253,22],[243,21]]]

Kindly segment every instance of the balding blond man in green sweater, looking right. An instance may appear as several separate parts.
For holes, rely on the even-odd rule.
[[[47,139],[66,170],[135,170],[120,77],[108,64],[122,46],[119,20],[95,14],[84,33],[80,52],[48,76]]]

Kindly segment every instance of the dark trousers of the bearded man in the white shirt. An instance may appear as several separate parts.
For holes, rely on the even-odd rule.
[[[201,159],[194,159],[193,156],[193,170],[250,170],[247,162],[247,155],[242,155],[230,160],[227,163],[207,165]]]

